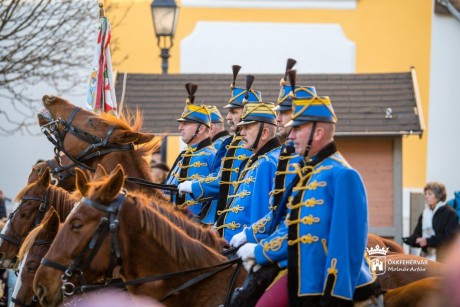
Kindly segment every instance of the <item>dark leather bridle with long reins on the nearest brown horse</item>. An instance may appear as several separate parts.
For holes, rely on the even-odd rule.
[[[225,306],[226,306],[231,298],[230,290],[234,288],[236,278],[241,269],[242,262],[240,258],[235,258],[233,260],[229,260],[227,262],[213,265],[210,267],[190,269],[190,270],[166,273],[166,274],[161,274],[161,275],[152,275],[152,276],[147,276],[143,278],[138,278],[135,280],[129,280],[126,282],[112,282],[111,277],[113,276],[113,270],[115,269],[116,266],[121,265],[121,251],[120,251],[120,244],[118,241],[117,230],[118,230],[118,225],[119,225],[120,211],[121,211],[125,196],[126,196],[126,192],[123,191],[108,206],[102,205],[98,202],[95,202],[93,200],[90,200],[84,197],[81,200],[83,204],[93,207],[95,209],[101,210],[103,212],[106,212],[106,216],[100,219],[99,225],[96,228],[94,234],[92,235],[88,245],[85,248],[83,248],[79,256],[77,256],[77,258],[72,262],[72,264],[69,267],[66,267],[60,263],[48,260],[46,258],[43,258],[41,260],[42,265],[49,266],[51,268],[64,272],[64,274],[61,275],[61,281],[62,281],[61,289],[62,289],[63,294],[65,296],[72,296],[76,294],[77,292],[92,291],[92,290],[104,288],[107,286],[125,288],[126,286],[144,284],[147,282],[158,281],[158,280],[167,280],[167,279],[175,278],[177,276],[181,276],[184,274],[195,273],[195,272],[205,271],[205,270],[210,270],[210,269],[212,270],[210,272],[206,272],[201,275],[198,275],[197,277],[191,280],[188,280],[187,282],[180,285],[178,288],[172,289],[167,294],[165,294],[162,298],[159,299],[159,301],[164,301],[172,297],[177,292],[182,291],[186,288],[189,288],[205,280],[206,278],[209,278],[229,268],[233,264],[237,264],[229,280],[228,289],[227,289],[227,297],[225,299]],[[107,236],[109,232],[112,233],[111,256],[110,256],[111,264],[109,266],[109,270],[106,272],[106,282],[102,284],[94,284],[94,285],[88,284],[83,277],[83,272],[89,266],[92,259],[95,257],[97,251],[99,250],[99,247],[102,245],[102,242],[104,241],[105,237]],[[112,261],[113,258],[116,258],[116,262]],[[78,275],[77,277],[80,278],[80,283],[81,283],[81,286],[78,288],[69,281],[69,278],[71,278],[75,272],[77,272],[77,275]]]

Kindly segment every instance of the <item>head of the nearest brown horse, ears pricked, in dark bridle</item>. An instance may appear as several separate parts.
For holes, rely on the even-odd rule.
[[[75,171],[75,185],[78,190],[84,189],[88,186],[87,177],[83,171]],[[93,179],[87,198],[83,198],[67,217],[37,271],[34,289],[43,305],[60,303],[63,282],[66,291],[72,292],[73,278],[84,275],[85,281],[94,282],[110,271],[113,264],[111,239],[117,234],[111,233],[109,228],[118,213],[113,203],[119,199],[124,172],[117,167],[106,178],[96,177],[99,178]]]

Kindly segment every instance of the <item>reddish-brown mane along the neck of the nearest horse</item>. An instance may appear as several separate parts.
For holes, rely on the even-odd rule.
[[[157,242],[165,249],[168,256],[179,265],[202,265],[203,262],[216,264],[226,261],[210,247],[198,240],[191,238],[182,229],[174,225],[165,216],[150,207],[144,198],[134,197],[135,208],[139,209],[139,222],[147,235],[156,238]]]

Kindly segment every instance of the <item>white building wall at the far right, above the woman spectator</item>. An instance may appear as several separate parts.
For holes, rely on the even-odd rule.
[[[460,190],[460,22],[433,14],[427,181]]]

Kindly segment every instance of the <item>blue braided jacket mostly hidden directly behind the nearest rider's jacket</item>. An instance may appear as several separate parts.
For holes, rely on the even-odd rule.
[[[292,141],[287,141],[281,146],[281,154],[275,173],[275,186],[270,192],[270,211],[263,218],[245,229],[246,238],[249,243],[259,243],[260,240],[268,237],[279,227],[279,224],[272,225],[273,217],[277,214],[286,215],[286,207],[279,208],[278,205],[281,201],[281,196],[286,190],[286,186],[300,172],[298,164],[302,158],[295,154]],[[283,222],[284,218],[280,218],[279,221]]]

